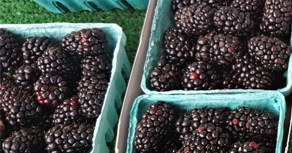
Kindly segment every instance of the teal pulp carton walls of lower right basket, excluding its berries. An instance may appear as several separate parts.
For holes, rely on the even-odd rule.
[[[128,134],[127,153],[134,153],[135,147],[133,140],[135,138],[136,125],[142,118],[147,107],[154,102],[165,101],[172,106],[174,111],[183,116],[187,110],[200,107],[229,107],[230,109],[240,108],[241,106],[250,106],[255,109],[263,109],[279,117],[277,131],[276,153],[282,151],[284,119],[286,113],[286,102],[280,92],[267,91],[262,93],[244,93],[244,94],[196,94],[196,95],[161,95],[150,94],[139,96],[133,104],[130,118],[130,128]]]

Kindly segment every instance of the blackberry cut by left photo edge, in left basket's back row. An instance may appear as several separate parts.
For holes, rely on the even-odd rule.
[[[0,29],[0,73],[13,72],[22,61],[19,54],[17,38],[11,32]]]

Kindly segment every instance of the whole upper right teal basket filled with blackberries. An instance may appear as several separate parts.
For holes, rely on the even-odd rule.
[[[287,96],[291,20],[291,0],[158,0],[142,89]]]

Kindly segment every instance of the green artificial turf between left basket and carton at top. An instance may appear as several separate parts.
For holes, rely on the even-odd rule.
[[[0,24],[28,23],[116,23],[123,28],[127,36],[126,51],[133,64],[139,45],[146,10],[82,11],[79,13],[57,14],[46,10],[34,1],[1,0]]]

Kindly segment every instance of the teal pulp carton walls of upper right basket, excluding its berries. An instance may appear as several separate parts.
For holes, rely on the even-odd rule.
[[[142,90],[146,94],[234,94],[263,91],[261,89],[172,90],[167,92],[157,92],[152,90],[149,83],[149,74],[155,67],[157,61],[164,57],[162,43],[164,31],[171,26],[175,26],[174,13],[171,10],[171,1],[157,0],[141,83]],[[288,96],[292,92],[292,56],[290,56],[288,60],[288,70],[284,73],[284,76],[286,77],[286,85],[284,88],[277,90],[284,94],[284,96]]]

